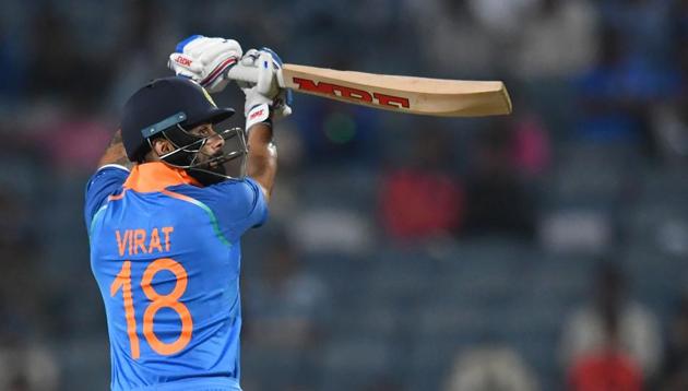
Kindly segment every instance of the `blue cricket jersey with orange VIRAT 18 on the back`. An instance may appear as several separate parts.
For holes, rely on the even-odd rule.
[[[88,181],[84,214],[111,389],[240,390],[239,238],[266,218],[260,186],[111,165]]]

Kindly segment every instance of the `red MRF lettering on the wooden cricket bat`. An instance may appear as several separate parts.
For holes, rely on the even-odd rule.
[[[349,100],[360,100],[377,106],[389,106],[394,108],[408,108],[408,98],[403,96],[393,96],[381,93],[369,93],[359,88],[352,88],[344,85],[337,85],[328,82],[317,82],[303,78],[293,78],[294,83],[298,84],[298,90],[311,92],[315,94],[330,95]]]

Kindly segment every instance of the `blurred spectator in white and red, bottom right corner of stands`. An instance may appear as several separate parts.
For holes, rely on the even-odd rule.
[[[593,301],[578,308],[564,325],[560,353],[571,381],[634,384],[637,378],[651,379],[662,354],[655,316],[628,298],[626,280],[615,264],[600,266],[593,295]]]

